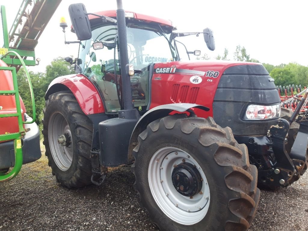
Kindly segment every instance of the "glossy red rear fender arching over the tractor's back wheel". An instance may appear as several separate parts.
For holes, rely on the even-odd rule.
[[[49,84],[45,100],[58,91],[70,90],[86,115],[105,112],[103,101],[94,84],[82,74],[58,77]]]

